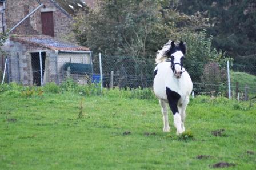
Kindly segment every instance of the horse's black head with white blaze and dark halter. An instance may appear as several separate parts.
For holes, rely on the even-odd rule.
[[[186,53],[186,46],[181,41],[179,46],[175,46],[174,41],[171,42],[171,47],[169,51],[166,51],[166,56],[170,58],[171,70],[173,70],[176,78],[181,78],[182,68],[183,68],[183,59]]]

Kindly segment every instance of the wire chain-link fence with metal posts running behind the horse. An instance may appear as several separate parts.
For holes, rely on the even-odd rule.
[[[41,61],[40,61],[41,58]],[[78,84],[99,83],[106,88],[153,87],[154,59],[128,56],[46,57],[42,52],[32,53],[31,58],[5,58],[1,64],[1,82],[18,82],[41,86],[47,82],[61,84],[67,78]],[[6,63],[6,64],[5,64]],[[6,65],[6,66],[5,66]],[[193,81],[193,91],[210,96],[229,96],[227,63],[202,63],[185,60],[184,67]],[[18,68],[18,69],[17,69]],[[3,73],[5,78],[3,79]],[[239,100],[256,96],[256,66],[230,64],[231,96]]]

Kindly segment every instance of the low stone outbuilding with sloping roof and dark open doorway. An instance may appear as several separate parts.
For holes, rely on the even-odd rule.
[[[11,80],[37,85],[65,80],[68,67],[80,84],[92,73],[91,51],[47,35],[10,37]]]

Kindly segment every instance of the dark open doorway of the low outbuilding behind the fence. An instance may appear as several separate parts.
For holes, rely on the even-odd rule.
[[[42,52],[42,73],[45,73],[45,52]],[[41,86],[40,55],[39,52],[31,53],[33,84]]]

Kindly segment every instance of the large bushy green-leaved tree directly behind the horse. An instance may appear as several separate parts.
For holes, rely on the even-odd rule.
[[[190,16],[179,13],[172,8],[175,1],[171,2],[173,3],[167,0],[102,0],[96,10],[77,15],[74,33],[78,42],[90,47],[94,53],[133,56],[134,75],[148,76],[152,75],[153,68],[143,69],[146,62],[138,63],[138,59],[150,60],[150,65],[154,66],[155,53],[163,44],[169,39],[183,40],[187,43],[186,58],[190,61],[186,63],[186,68],[195,69],[191,76],[195,82],[200,82],[203,62],[221,61],[225,54],[213,48],[212,37],[202,31],[209,27],[208,18],[202,13]],[[109,64],[111,62],[113,60],[108,61]],[[120,68],[122,66],[119,64]],[[126,70],[131,69],[127,68],[129,66],[124,67]]]

